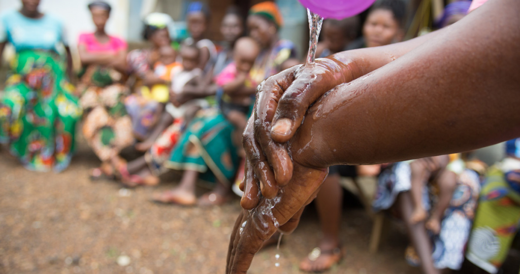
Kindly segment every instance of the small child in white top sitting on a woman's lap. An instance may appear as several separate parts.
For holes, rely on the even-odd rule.
[[[176,96],[189,92],[190,86],[194,87],[202,77],[202,70],[197,66],[199,64],[200,49],[193,44],[185,44],[180,49],[180,57],[183,59],[183,66],[175,68],[172,71],[172,85],[170,87],[170,102],[166,106],[166,111],[175,119],[184,118],[185,124],[193,119],[197,111],[207,106],[204,99],[192,99],[185,103],[176,100]]]

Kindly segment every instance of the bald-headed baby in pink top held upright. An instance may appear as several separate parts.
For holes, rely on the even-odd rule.
[[[260,48],[253,38],[240,38],[233,50],[233,62],[215,77],[215,83],[223,90],[219,102],[220,109],[226,119],[235,126],[233,139],[241,155],[243,155],[242,132],[251,113],[252,96],[255,90],[249,71],[259,52]]]

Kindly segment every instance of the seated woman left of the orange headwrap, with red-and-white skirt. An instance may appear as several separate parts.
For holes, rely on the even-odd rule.
[[[232,61],[232,50],[235,42],[242,35],[244,30],[243,20],[235,9],[229,9],[222,21],[222,32],[226,39],[224,50],[217,56],[217,62],[213,68],[214,73],[222,71]],[[191,86],[189,86],[191,87]],[[178,104],[183,104],[192,99],[204,98],[206,96],[215,95],[217,93],[217,86],[198,85],[194,88],[188,89],[184,87],[183,93],[171,94],[170,100],[176,101]],[[171,117],[171,116],[170,116]],[[172,150],[177,144],[181,128],[183,128],[184,121],[177,119],[175,122],[170,122],[170,126],[155,140],[153,146],[145,154],[127,165],[121,163],[117,168],[120,170],[123,182],[127,186],[138,185],[153,185],[159,182],[159,175],[168,171],[163,163],[170,159]]]

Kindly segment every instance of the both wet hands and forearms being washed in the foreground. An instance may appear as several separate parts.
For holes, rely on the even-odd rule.
[[[418,159],[520,135],[520,2],[490,2],[429,35],[318,59],[265,81],[244,132],[241,205],[254,213],[281,197],[273,214],[295,226],[327,166]],[[228,273],[245,273],[267,239],[249,225],[257,215],[244,211],[237,224],[243,218],[250,221],[242,236],[239,225],[233,230]]]

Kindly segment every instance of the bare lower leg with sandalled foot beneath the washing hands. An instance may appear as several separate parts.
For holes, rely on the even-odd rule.
[[[321,272],[337,264],[341,257],[340,225],[342,215],[343,190],[340,174],[327,177],[314,200],[318,210],[323,238],[318,243],[319,252],[312,253],[300,264],[300,269],[307,272]]]

